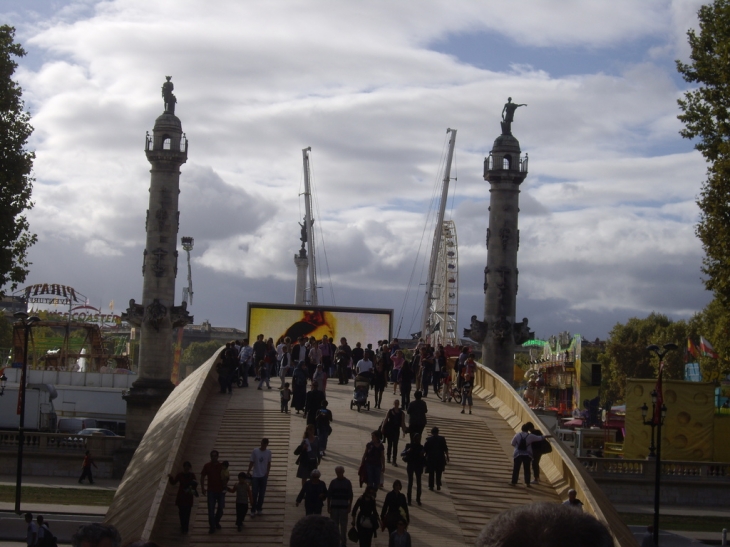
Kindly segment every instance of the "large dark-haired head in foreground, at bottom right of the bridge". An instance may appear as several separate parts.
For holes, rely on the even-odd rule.
[[[476,547],[613,547],[606,526],[589,514],[556,503],[532,503],[500,513]]]

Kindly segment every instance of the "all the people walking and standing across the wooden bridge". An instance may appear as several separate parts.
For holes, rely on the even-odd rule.
[[[474,356],[468,348],[462,348],[458,358],[449,365],[447,354],[445,348],[432,348],[423,342],[416,347],[414,357],[406,359],[397,340],[381,341],[373,350],[370,344],[362,347],[359,342],[351,348],[345,338],[338,346],[326,336],[321,341],[302,337],[294,343],[282,339],[274,345],[271,338],[265,340],[259,335],[253,346],[248,340],[228,344],[221,355],[218,372],[221,393],[230,392],[234,379],[242,378],[243,386],[247,386],[249,379],[255,378],[258,389],[264,389],[264,386],[271,389],[272,378],[278,377],[281,412],[296,412],[306,421],[301,441],[295,443],[294,450],[296,477],[301,480],[295,505],[303,504],[304,514],[309,519],[302,522],[318,523],[316,527],[321,533],[328,527],[336,530],[333,534],[340,546],[346,545],[349,538],[368,547],[378,531],[386,530],[390,545],[411,545],[410,511],[414,501],[418,506],[422,505],[422,476],[424,472],[428,474],[429,490],[441,490],[442,475],[450,462],[446,439],[437,427],[431,428],[430,435],[422,440],[428,425],[426,399],[429,392],[443,402],[459,393],[461,412],[472,413],[471,390],[477,368]],[[369,378],[375,408],[381,408],[383,395],[391,384],[393,394],[400,397],[393,400],[379,427],[370,433],[357,470],[360,487],[364,489],[357,496],[343,466],[334,467],[335,477],[326,480],[321,464],[334,421],[326,398],[327,383],[336,378],[339,385],[346,385],[354,378],[362,377]],[[401,436],[406,435],[408,442],[399,451]],[[539,482],[540,456],[550,450],[547,437],[531,423],[525,424],[515,435],[510,484],[517,484],[520,469],[524,469],[527,486]],[[201,491],[207,496],[209,533],[213,534],[221,527],[226,493],[236,496],[239,531],[249,510],[252,517],[262,514],[272,458],[267,445],[268,439],[262,439],[260,447],[251,453],[247,471],[241,471],[237,475],[238,482],[233,485],[229,485],[227,462],[219,462],[218,452],[211,452],[211,460],[200,474]],[[404,488],[400,480],[394,480],[392,489],[386,492],[380,504],[378,494],[381,489],[386,490],[386,465],[398,467],[399,461],[405,464],[407,485]],[[196,478],[188,462],[181,473],[169,478],[171,483],[179,484],[176,503],[180,509],[181,531],[187,533],[190,508],[197,495]],[[582,506],[575,491],[571,491],[565,504]],[[320,517],[325,511],[330,524],[324,524]],[[302,530],[302,537],[311,532],[306,527]],[[295,527],[292,542],[297,535]]]

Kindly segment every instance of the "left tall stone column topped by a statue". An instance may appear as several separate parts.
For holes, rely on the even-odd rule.
[[[180,166],[187,161],[188,142],[175,116],[172,82],[162,87],[165,111],[147,135],[145,153],[150,170],[149,209],[142,260],[142,304],[130,301],[124,320],[140,328],[138,379],[124,397],[127,401],[126,440],[139,444],[162,403],[175,387],[170,381],[173,329],[191,323],[187,303],[175,306],[177,233],[180,212]]]

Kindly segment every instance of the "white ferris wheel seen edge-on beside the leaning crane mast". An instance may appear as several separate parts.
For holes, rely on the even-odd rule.
[[[459,315],[459,247],[456,224],[445,220],[438,246],[436,272],[431,298],[428,324],[431,344],[458,346],[460,339],[456,329]]]

